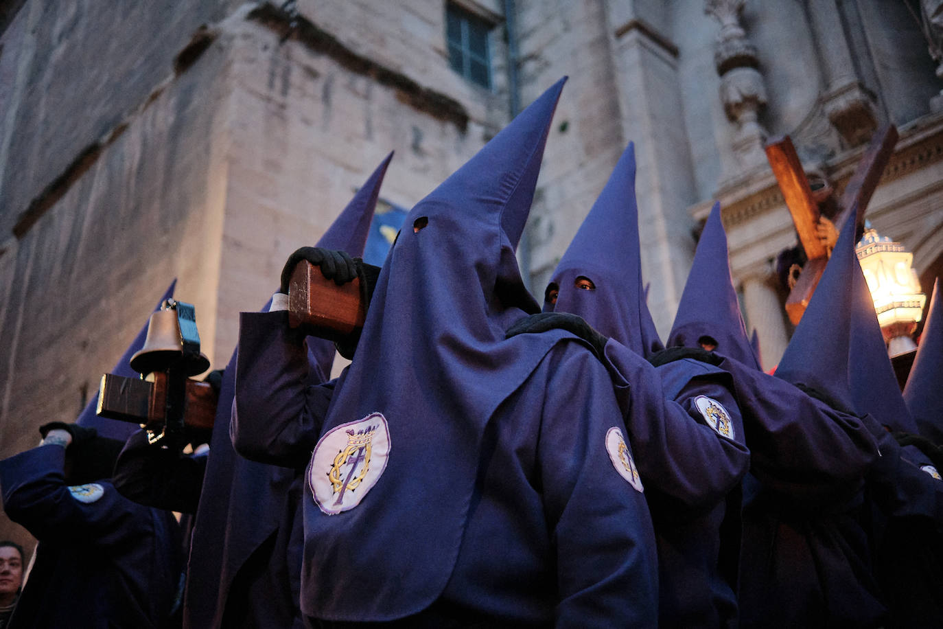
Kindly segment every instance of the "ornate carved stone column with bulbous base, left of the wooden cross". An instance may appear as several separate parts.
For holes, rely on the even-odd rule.
[[[744,168],[766,163],[763,143],[767,132],[759,123],[759,111],[767,104],[763,75],[757,69],[756,47],[740,25],[746,0],[706,0],[704,12],[720,22],[714,44],[714,64],[720,74],[720,101],[737,131],[732,148]]]

